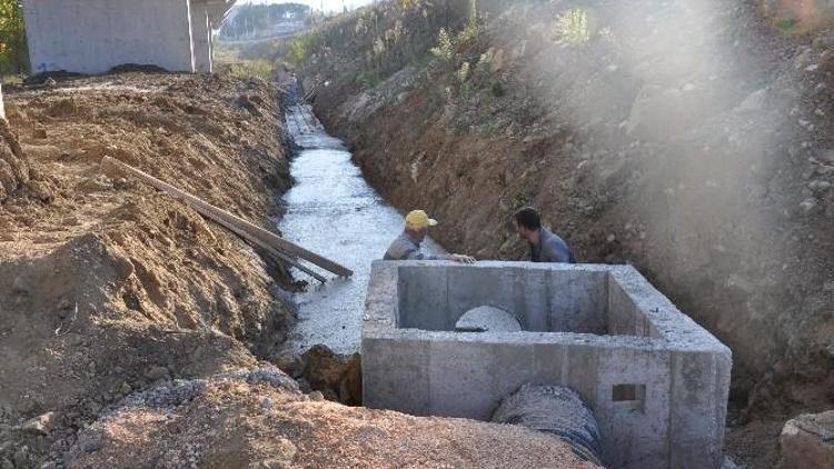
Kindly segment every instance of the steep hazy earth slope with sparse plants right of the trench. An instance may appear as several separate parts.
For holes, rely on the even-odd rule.
[[[784,418],[834,402],[831,18],[399,1],[309,37],[301,70],[365,176],[437,216],[446,248],[519,259],[510,214],[540,208],[582,261],[635,265],[732,348],[739,421]]]

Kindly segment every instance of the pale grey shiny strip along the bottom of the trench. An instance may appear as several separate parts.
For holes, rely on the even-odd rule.
[[[354,277],[327,273],[329,280],[321,285],[296,272],[310,283],[295,296],[299,321],[285,347],[302,353],[322,343],[337,353],[357,352],[370,263],[381,259],[401,232],[403,216],[365,181],[345,144],[327,134],[308,106],[291,107],[286,119],[299,149],[290,164],[295,184],[284,197],[287,211],[279,228],[287,239],[351,269]],[[430,239],[423,249],[444,252]]]

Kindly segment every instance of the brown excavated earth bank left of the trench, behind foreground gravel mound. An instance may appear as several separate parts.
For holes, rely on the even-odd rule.
[[[255,365],[292,321],[251,248],[102,174],[102,157],[267,228],[289,177],[278,91],[260,81],[120,74],[4,91],[20,146],[0,146],[17,184],[3,180],[16,189],[0,200],[0,463],[26,468],[60,461],[133,390]]]

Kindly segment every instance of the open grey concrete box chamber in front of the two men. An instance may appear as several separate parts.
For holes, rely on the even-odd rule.
[[[456,332],[468,310],[518,332]],[[377,261],[363,325],[370,408],[489,420],[525,383],[576,390],[613,468],[717,468],[732,356],[629,266]]]

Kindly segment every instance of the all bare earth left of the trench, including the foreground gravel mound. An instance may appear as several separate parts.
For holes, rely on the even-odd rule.
[[[186,204],[102,172],[116,158],[275,230],[290,186],[275,86],[125,73],[4,92],[30,180],[0,204],[2,469],[582,467],[553,436],[300,392],[267,361],[306,372],[307,392],[342,373],[326,351],[304,371],[280,353],[301,286]],[[254,367],[267,383],[240,379]]]

